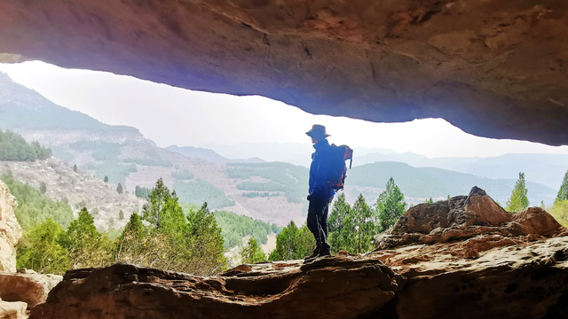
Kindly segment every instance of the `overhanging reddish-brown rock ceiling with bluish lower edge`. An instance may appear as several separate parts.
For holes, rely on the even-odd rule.
[[[6,0],[0,58],[568,144],[564,1]]]

